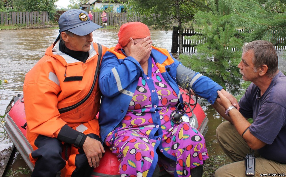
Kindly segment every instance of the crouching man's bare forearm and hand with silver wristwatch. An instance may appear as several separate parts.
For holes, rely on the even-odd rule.
[[[220,104],[221,107],[218,107],[220,112],[222,112],[222,108],[225,110],[232,106],[232,103],[229,101],[227,97],[225,97],[221,91],[218,91],[219,98],[217,98],[216,102]],[[218,105],[215,105],[218,106]],[[219,113],[220,113],[219,112]],[[221,113],[220,113],[221,114]],[[224,116],[225,113],[221,114]],[[227,120],[229,120],[234,126],[237,132],[242,135],[243,133],[243,139],[246,141],[247,145],[249,148],[253,150],[257,150],[265,146],[265,143],[262,142],[261,140],[257,139],[255,136],[251,134],[247,128],[251,125],[241,114],[237,109],[231,109],[229,111],[229,116],[227,116]],[[245,132],[246,130],[246,132]]]

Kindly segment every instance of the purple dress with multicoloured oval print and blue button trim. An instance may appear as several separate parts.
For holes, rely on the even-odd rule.
[[[121,176],[152,176],[157,163],[172,175],[190,176],[208,158],[204,137],[188,122],[171,121],[178,96],[149,60],[126,116],[105,143],[120,160]]]

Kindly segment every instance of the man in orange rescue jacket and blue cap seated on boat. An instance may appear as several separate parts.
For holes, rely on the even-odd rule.
[[[27,139],[33,147],[32,176],[90,176],[104,153],[96,114],[98,72],[106,47],[93,43],[101,26],[72,9],[59,18],[59,37],[27,73],[24,105]],[[63,157],[64,145],[71,146]]]

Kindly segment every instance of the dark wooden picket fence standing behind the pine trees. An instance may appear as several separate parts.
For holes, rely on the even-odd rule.
[[[171,49],[171,53],[176,53],[178,51],[178,36],[179,36],[179,31],[178,31],[178,27],[173,27],[173,35],[172,35],[172,49]],[[238,33],[242,33],[243,29],[237,29]],[[277,33],[277,31],[273,31],[273,34]],[[192,35],[200,35],[201,31],[195,31],[194,29],[184,29],[183,30],[183,51],[185,52],[191,52],[194,53],[196,52],[196,45],[200,44],[200,43],[204,43],[204,41],[206,40],[204,37],[202,37],[200,40],[198,41],[194,41],[191,39],[187,39],[185,38],[185,36],[192,36]],[[274,36],[271,37],[271,40],[274,39]],[[283,42],[285,42],[285,37],[280,37],[280,38],[276,38],[275,39],[277,41],[277,43],[281,44]],[[286,46],[275,46],[276,50],[286,50]],[[235,49],[232,49],[235,50]]]

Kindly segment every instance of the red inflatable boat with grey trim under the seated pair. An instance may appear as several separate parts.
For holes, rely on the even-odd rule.
[[[183,96],[185,104],[188,103],[189,95],[181,89],[181,94]],[[188,110],[194,107],[195,97],[191,96],[190,106]],[[25,119],[25,110],[24,110],[24,100],[23,94],[15,95],[10,104],[5,110],[5,125],[4,130],[7,132],[8,138],[13,142],[19,153],[22,155],[23,159],[33,170],[34,165],[29,160],[29,154],[33,150],[31,145],[26,139],[26,119]],[[208,131],[208,118],[204,114],[200,104],[197,104],[194,110],[188,114],[190,117],[190,125],[196,128],[204,136]],[[104,176],[104,177],[119,177],[118,170],[119,162],[116,158],[116,155],[106,148],[104,157],[100,160],[100,166],[94,168],[92,177]],[[167,172],[163,170],[160,171],[160,176],[166,176]]]

